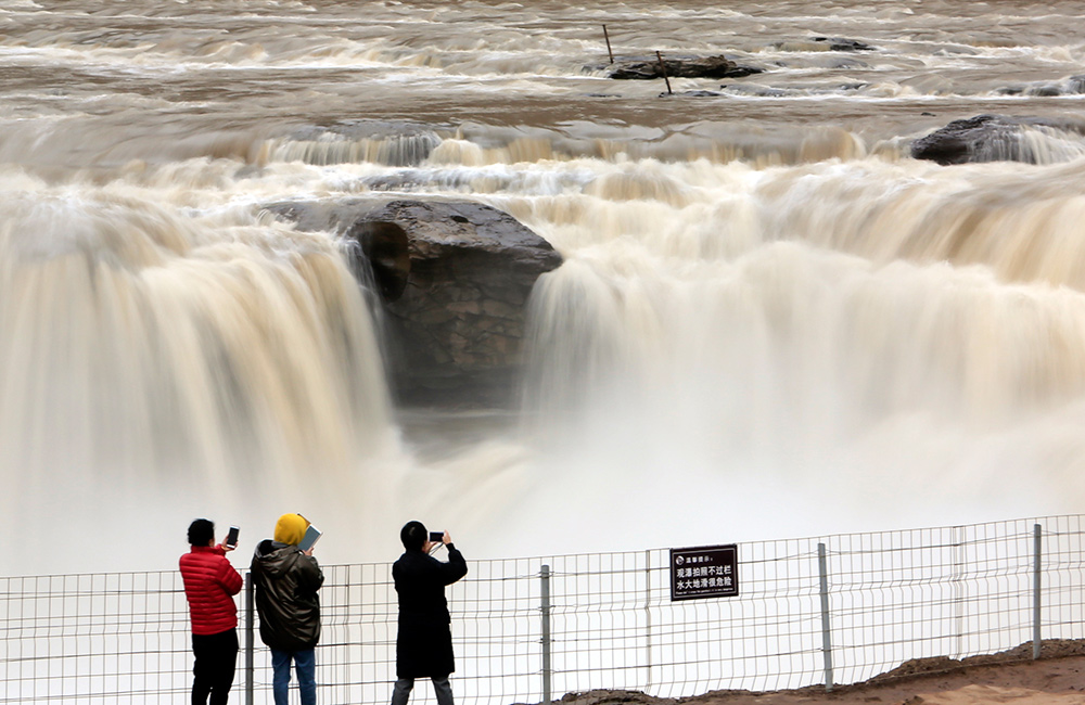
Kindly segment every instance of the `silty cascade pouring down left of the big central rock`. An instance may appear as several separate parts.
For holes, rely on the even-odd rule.
[[[0,208],[5,515],[120,540],[136,516],[383,501],[361,470],[395,446],[380,348],[330,238],[87,188]],[[77,539],[14,543],[30,560]]]

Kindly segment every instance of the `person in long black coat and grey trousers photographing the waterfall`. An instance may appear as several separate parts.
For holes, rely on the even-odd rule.
[[[452,705],[448,675],[456,670],[456,663],[445,586],[467,575],[468,564],[452,546],[448,531],[439,542],[431,541],[421,522],[408,522],[399,531],[399,539],[406,551],[392,565],[392,578],[399,595],[392,705],[407,705],[416,678],[433,681],[437,705]],[[448,549],[447,563],[430,555],[431,549],[441,543]]]

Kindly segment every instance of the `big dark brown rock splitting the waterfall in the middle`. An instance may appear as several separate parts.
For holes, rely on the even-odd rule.
[[[340,200],[267,206],[341,235],[384,312],[401,403],[508,407],[523,363],[525,304],[562,262],[512,216],[469,201]]]

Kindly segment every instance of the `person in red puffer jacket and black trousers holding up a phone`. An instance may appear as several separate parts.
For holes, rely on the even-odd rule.
[[[189,526],[192,550],[180,560],[184,597],[192,618],[192,705],[226,705],[238,663],[238,605],[241,575],[227,560],[234,547],[215,546],[215,525],[197,518]]]

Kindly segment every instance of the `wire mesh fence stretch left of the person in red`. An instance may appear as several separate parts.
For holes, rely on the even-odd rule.
[[[191,685],[188,605],[173,573],[4,578],[4,703],[176,702]]]

